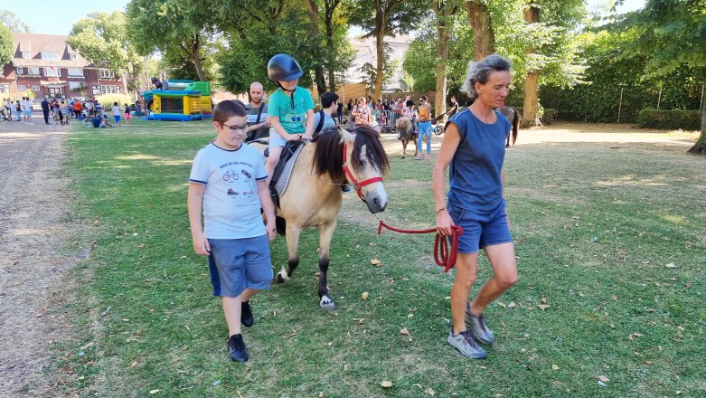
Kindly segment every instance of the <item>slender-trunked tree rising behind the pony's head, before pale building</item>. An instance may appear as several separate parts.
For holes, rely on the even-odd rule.
[[[360,0],[353,3],[351,22],[362,26],[363,38],[375,37],[375,94],[381,98],[385,62],[385,36],[408,33],[428,4],[412,0]]]

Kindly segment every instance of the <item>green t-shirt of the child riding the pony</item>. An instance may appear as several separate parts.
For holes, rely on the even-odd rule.
[[[314,109],[314,100],[309,90],[297,88],[289,97],[280,88],[269,98],[268,115],[278,117],[282,128],[289,134],[300,134],[306,131],[306,111]]]

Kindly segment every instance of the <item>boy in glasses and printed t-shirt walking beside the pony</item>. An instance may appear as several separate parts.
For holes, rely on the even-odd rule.
[[[275,239],[275,211],[262,156],[243,145],[248,118],[242,103],[225,100],[216,105],[213,128],[218,137],[193,159],[189,223],[194,251],[209,256],[213,295],[221,296],[228,324],[229,356],[246,362],[240,322],[252,326],[249,299],[269,289],[272,280],[269,242]],[[267,225],[262,223],[260,207]]]

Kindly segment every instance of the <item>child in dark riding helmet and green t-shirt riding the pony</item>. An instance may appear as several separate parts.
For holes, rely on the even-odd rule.
[[[268,104],[268,116],[277,133],[269,135],[268,185],[287,141],[309,139],[314,134],[314,100],[309,90],[297,86],[303,74],[291,55],[277,54],[268,62],[268,77],[279,86]]]

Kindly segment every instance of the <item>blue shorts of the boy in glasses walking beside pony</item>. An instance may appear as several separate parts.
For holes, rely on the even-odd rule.
[[[238,297],[246,289],[269,289],[272,261],[268,235],[243,239],[209,239],[213,296]]]

